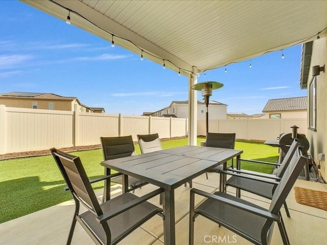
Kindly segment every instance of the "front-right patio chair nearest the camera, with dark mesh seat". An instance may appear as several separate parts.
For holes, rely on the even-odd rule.
[[[244,237],[253,244],[269,244],[274,222],[278,224],[283,244],[290,244],[281,216],[281,207],[307,161],[299,148],[296,149],[285,174],[278,182],[269,209],[217,191],[214,194],[198,189],[190,192],[190,245],[194,244],[194,222],[202,215],[213,222]],[[195,194],[207,198],[195,208]]]

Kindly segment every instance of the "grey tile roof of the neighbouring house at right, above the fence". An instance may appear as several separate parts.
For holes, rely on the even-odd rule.
[[[307,110],[307,97],[271,99],[267,102],[262,112]]]

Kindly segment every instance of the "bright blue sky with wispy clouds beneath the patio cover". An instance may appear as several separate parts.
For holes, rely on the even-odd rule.
[[[76,96],[124,115],[188,99],[188,78],[24,3],[0,1],[0,21],[0,93]],[[307,95],[299,87],[301,45],[283,52],[285,59],[278,51],[207,71],[198,82],[223,83],[211,100],[228,112],[261,113],[269,99]]]

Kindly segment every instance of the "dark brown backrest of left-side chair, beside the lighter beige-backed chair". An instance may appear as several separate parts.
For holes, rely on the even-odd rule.
[[[104,160],[135,155],[131,135],[122,137],[100,137]]]

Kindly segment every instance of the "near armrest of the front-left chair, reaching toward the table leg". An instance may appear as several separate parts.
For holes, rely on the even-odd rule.
[[[118,207],[118,208],[115,208],[114,210],[111,210],[111,211],[108,211],[100,216],[97,217],[97,221],[99,223],[103,223],[105,222],[106,220],[114,217],[114,216],[117,216],[123,212],[125,212],[126,210],[128,209],[131,209],[147,200],[149,200],[150,198],[153,198],[155,197],[156,195],[160,194],[161,192],[164,192],[164,189],[162,188],[159,188],[159,189],[156,189],[146,195],[143,195],[141,198],[138,198],[138,199],[135,199],[135,200],[132,200],[128,203],[125,203],[124,205]]]

